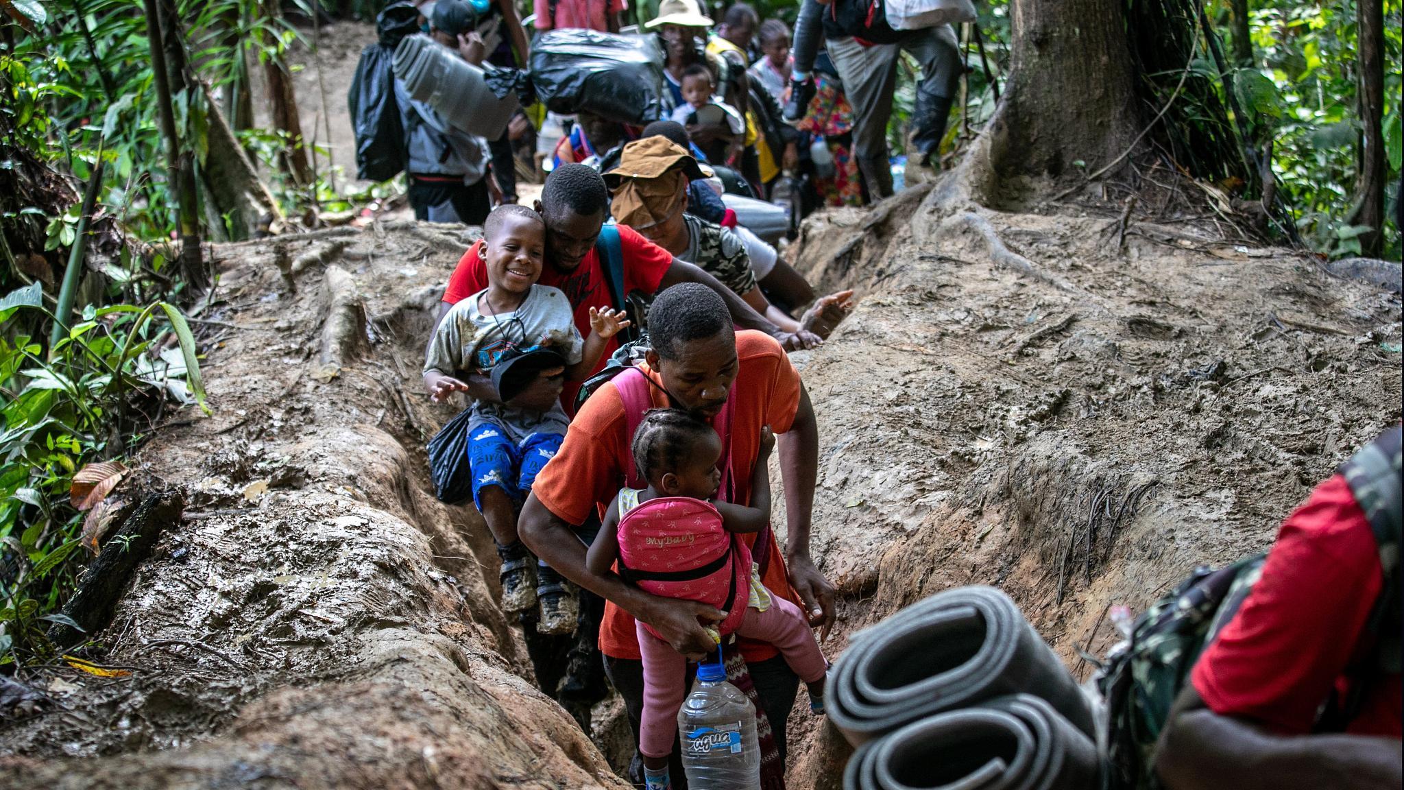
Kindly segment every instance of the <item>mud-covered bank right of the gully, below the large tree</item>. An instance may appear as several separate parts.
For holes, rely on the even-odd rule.
[[[1078,649],[1113,644],[1109,604],[1140,610],[1195,565],[1265,550],[1400,419],[1394,292],[1223,242],[1212,216],[1133,214],[1123,233],[1115,207],[974,209],[1024,271],[934,197],[876,225],[813,221],[799,249],[820,292],[863,294],[803,371],[813,548],[841,590],[830,656],[920,597],[991,583],[1087,678]],[[810,734],[795,786],[837,787],[841,738],[792,723]]]

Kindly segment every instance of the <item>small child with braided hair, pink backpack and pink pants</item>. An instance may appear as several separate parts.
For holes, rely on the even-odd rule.
[[[751,506],[717,502],[722,439],[702,419],[678,409],[653,409],[633,434],[633,461],[647,488],[623,488],[605,512],[600,534],[587,552],[592,574],[619,574],[640,589],[665,597],[696,600],[727,613],[713,634],[775,645],[809,686],[810,708],[824,710],[828,665],[803,613],[761,583],[751,551],[736,533],[757,533],[771,519],[767,461],[775,437],[761,432],[751,472]],[[643,659],[643,713],[639,752],[647,790],[668,787],[668,755],[677,737],[677,715],[685,696],[687,659],[637,623]]]

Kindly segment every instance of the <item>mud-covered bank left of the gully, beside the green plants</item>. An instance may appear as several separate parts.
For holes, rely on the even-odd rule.
[[[52,678],[0,728],[0,787],[622,786],[528,682],[482,522],[428,485],[453,412],[423,395],[423,343],[468,238],[291,240],[286,276],[274,243],[216,249],[213,416],[187,409],[133,475],[184,517],[95,634],[131,675]]]

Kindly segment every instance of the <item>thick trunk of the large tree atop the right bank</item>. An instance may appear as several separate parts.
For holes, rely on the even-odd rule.
[[[1119,0],[1014,0],[1012,70],[991,148],[1001,176],[1095,169],[1136,138],[1130,51]],[[1088,79],[1095,75],[1095,79]]]

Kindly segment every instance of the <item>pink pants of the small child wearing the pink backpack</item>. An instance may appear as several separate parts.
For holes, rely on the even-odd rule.
[[[673,752],[673,738],[678,732],[678,710],[687,696],[684,680],[688,662],[668,642],[650,634],[642,624],[639,654],[643,658],[643,713],[639,723],[639,752],[647,758],[665,758]],[[804,614],[793,603],[771,593],[765,611],[746,609],[739,637],[769,642],[785,656],[785,662],[806,683],[824,678],[828,663],[814,641],[814,631]],[[715,656],[713,656],[715,661]]]

